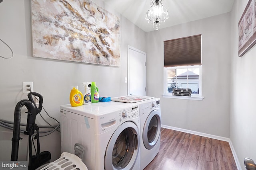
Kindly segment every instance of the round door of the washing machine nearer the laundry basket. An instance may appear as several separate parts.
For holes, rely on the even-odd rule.
[[[105,152],[105,170],[131,170],[138,158],[140,137],[131,121],[122,123],[113,133]]]

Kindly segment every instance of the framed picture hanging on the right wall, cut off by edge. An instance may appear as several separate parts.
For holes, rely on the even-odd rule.
[[[249,0],[238,22],[238,57],[256,44],[256,0]]]

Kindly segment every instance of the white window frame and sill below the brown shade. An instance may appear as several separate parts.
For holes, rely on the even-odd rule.
[[[167,70],[168,69],[182,69],[182,68],[199,68],[199,94],[191,94],[191,96],[174,96],[172,94],[167,94]],[[164,67],[164,98],[175,98],[175,99],[186,99],[186,100],[203,100],[202,97],[202,65],[200,66],[174,66],[174,67]]]

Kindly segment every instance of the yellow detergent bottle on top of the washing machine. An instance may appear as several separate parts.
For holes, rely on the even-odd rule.
[[[78,86],[72,86],[69,100],[71,106],[82,106],[83,94],[78,90]]]

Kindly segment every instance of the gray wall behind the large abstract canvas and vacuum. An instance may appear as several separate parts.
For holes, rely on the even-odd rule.
[[[110,12],[101,0],[96,3]],[[119,14],[116,14],[119,16]],[[146,51],[146,33],[120,16],[121,19],[121,64],[120,67],[66,62],[32,57],[30,0],[4,0],[0,4],[0,39],[14,51],[13,59],[0,58],[0,118],[13,121],[16,103],[28,99],[22,93],[22,82],[34,82],[34,91],[43,96],[46,111],[60,120],[59,108],[69,104],[72,85],[78,85],[83,92],[82,82],[95,81],[100,96],[124,96],[127,94],[127,45]],[[0,42],[0,55],[10,56],[8,49]],[[26,108],[22,109],[22,122],[26,123]],[[52,124],[44,111],[42,116]],[[36,117],[39,125],[46,125]],[[20,141],[19,160],[26,160],[27,136]],[[10,160],[12,131],[0,127],[0,160]],[[60,156],[60,134],[53,133],[40,138],[41,151],[49,150],[52,160]]]

